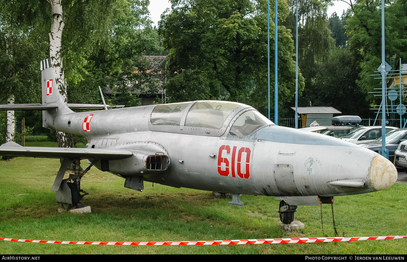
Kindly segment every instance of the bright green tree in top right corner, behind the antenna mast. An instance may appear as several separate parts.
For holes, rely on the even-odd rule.
[[[356,0],[349,2],[346,33],[351,37],[350,48],[360,61],[359,86],[365,92],[381,87],[381,79],[371,74],[381,65],[381,1]],[[385,1],[385,60],[390,58],[402,62],[407,59],[407,2],[405,0]],[[398,65],[396,68],[398,70]],[[387,86],[392,79],[387,80]],[[370,97],[374,101],[374,97]]]

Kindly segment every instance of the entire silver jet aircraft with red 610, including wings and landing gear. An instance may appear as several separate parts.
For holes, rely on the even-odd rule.
[[[43,127],[82,135],[88,144],[47,148],[7,142],[0,155],[63,159],[52,190],[66,208],[81,206],[87,193],[80,181],[93,165],[123,177],[126,188],[138,191],[149,181],[230,193],[229,203],[238,206],[243,206],[240,194],[275,196],[285,224],[293,221],[298,205],[383,190],[397,179],[394,165],[369,149],[279,127],[240,103],[199,100],[75,113],[55,87],[49,59],[41,65],[42,104],[1,109],[43,110]],[[80,159],[90,164],[82,172]],[[63,179],[71,162],[75,172]]]

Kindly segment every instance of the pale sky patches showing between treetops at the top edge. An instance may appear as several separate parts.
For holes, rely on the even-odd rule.
[[[270,1],[273,2],[273,1]],[[347,10],[349,4],[346,4],[342,1],[335,1],[333,7],[328,8],[328,17],[336,12],[339,16],[341,16],[344,10]],[[153,27],[158,26],[158,21],[160,21],[161,14],[165,11],[166,8],[170,8],[171,4],[168,0],[150,0],[149,10],[151,15],[151,20],[153,20]]]

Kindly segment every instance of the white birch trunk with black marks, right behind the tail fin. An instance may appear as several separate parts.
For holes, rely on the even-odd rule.
[[[53,20],[51,23],[50,36],[50,59],[53,66],[55,82],[63,101],[66,103],[66,82],[63,75],[61,37],[63,26],[62,0],[48,0],[51,4]],[[57,131],[58,147],[73,147],[72,135]]]

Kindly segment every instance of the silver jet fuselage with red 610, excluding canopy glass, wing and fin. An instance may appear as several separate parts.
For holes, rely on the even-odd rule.
[[[153,126],[154,107],[68,113],[45,117],[44,126],[83,135],[88,148],[144,148],[168,155],[165,171],[140,171],[145,163],[136,156],[109,160],[109,171],[174,187],[267,196],[339,196],[381,190],[397,179],[384,157],[326,135],[274,124],[250,135],[231,135],[236,118],[254,110],[246,105],[231,113],[223,133],[205,127]],[[184,122],[185,117],[186,113]]]

